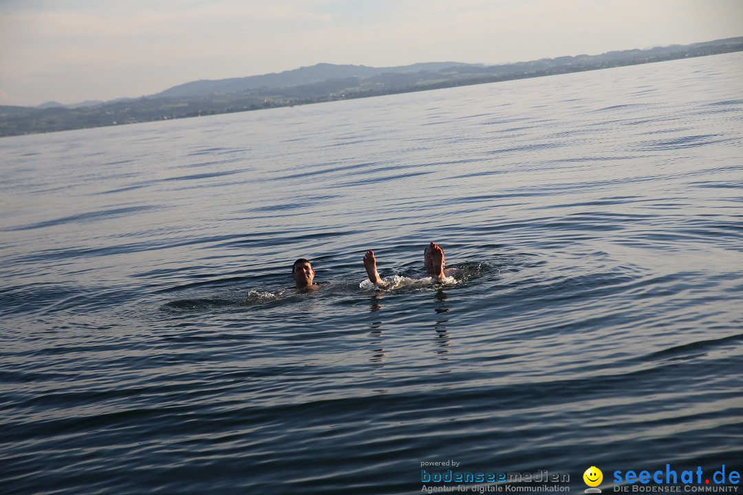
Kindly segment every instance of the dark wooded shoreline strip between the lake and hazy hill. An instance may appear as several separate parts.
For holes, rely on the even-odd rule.
[[[511,65],[453,65],[438,72],[381,73],[371,77],[349,76],[279,88],[252,88],[229,94],[214,92],[205,96],[142,97],[79,108],[0,106],[0,137],[311,105],[345,99],[598,71],[739,51],[743,51],[743,38],[649,50],[624,50],[599,56],[558,57]],[[210,82],[205,82],[207,83]],[[219,81],[212,83],[216,84]]]

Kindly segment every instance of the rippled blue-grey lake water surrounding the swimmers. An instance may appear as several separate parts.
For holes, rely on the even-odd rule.
[[[0,171],[4,494],[743,471],[742,53],[8,137]]]

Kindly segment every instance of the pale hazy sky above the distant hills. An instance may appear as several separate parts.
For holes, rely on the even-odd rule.
[[[0,0],[0,105],[320,62],[498,64],[743,36],[743,0]]]

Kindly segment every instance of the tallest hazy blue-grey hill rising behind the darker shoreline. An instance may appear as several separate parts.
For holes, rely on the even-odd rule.
[[[207,96],[218,93],[239,93],[258,88],[285,88],[324,82],[328,79],[345,79],[347,77],[373,77],[383,73],[412,73],[420,71],[438,72],[452,67],[481,67],[481,65],[464,64],[461,62],[429,62],[423,64],[403,65],[400,67],[367,67],[366,65],[334,65],[317,64],[311,67],[302,67],[291,71],[263,74],[261,76],[233,77],[186,82],[172,88],[153,94],[149,98]]]

